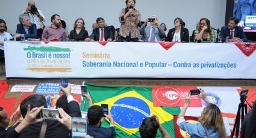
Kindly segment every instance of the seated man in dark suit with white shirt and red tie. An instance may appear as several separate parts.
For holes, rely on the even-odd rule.
[[[98,28],[93,29],[93,40],[95,41],[112,41],[114,38],[114,31],[105,26],[105,20],[102,17],[98,17],[96,20]]]

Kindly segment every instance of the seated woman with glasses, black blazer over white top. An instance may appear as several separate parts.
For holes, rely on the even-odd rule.
[[[182,26],[183,20],[176,17],[173,23],[175,28],[169,30],[165,41],[189,42],[189,30]]]

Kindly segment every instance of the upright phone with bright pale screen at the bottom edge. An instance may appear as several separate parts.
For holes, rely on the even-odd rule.
[[[72,117],[72,137],[86,137],[87,119]]]

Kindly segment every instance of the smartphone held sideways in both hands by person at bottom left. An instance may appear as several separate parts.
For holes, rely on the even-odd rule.
[[[56,119],[56,115],[60,118],[60,113],[57,109],[43,108],[40,112],[41,118],[43,119]]]

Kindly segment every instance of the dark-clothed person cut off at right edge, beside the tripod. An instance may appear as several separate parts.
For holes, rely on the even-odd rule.
[[[256,102],[254,101],[254,106],[251,111],[243,119],[243,124],[241,128],[241,138],[256,137]]]

